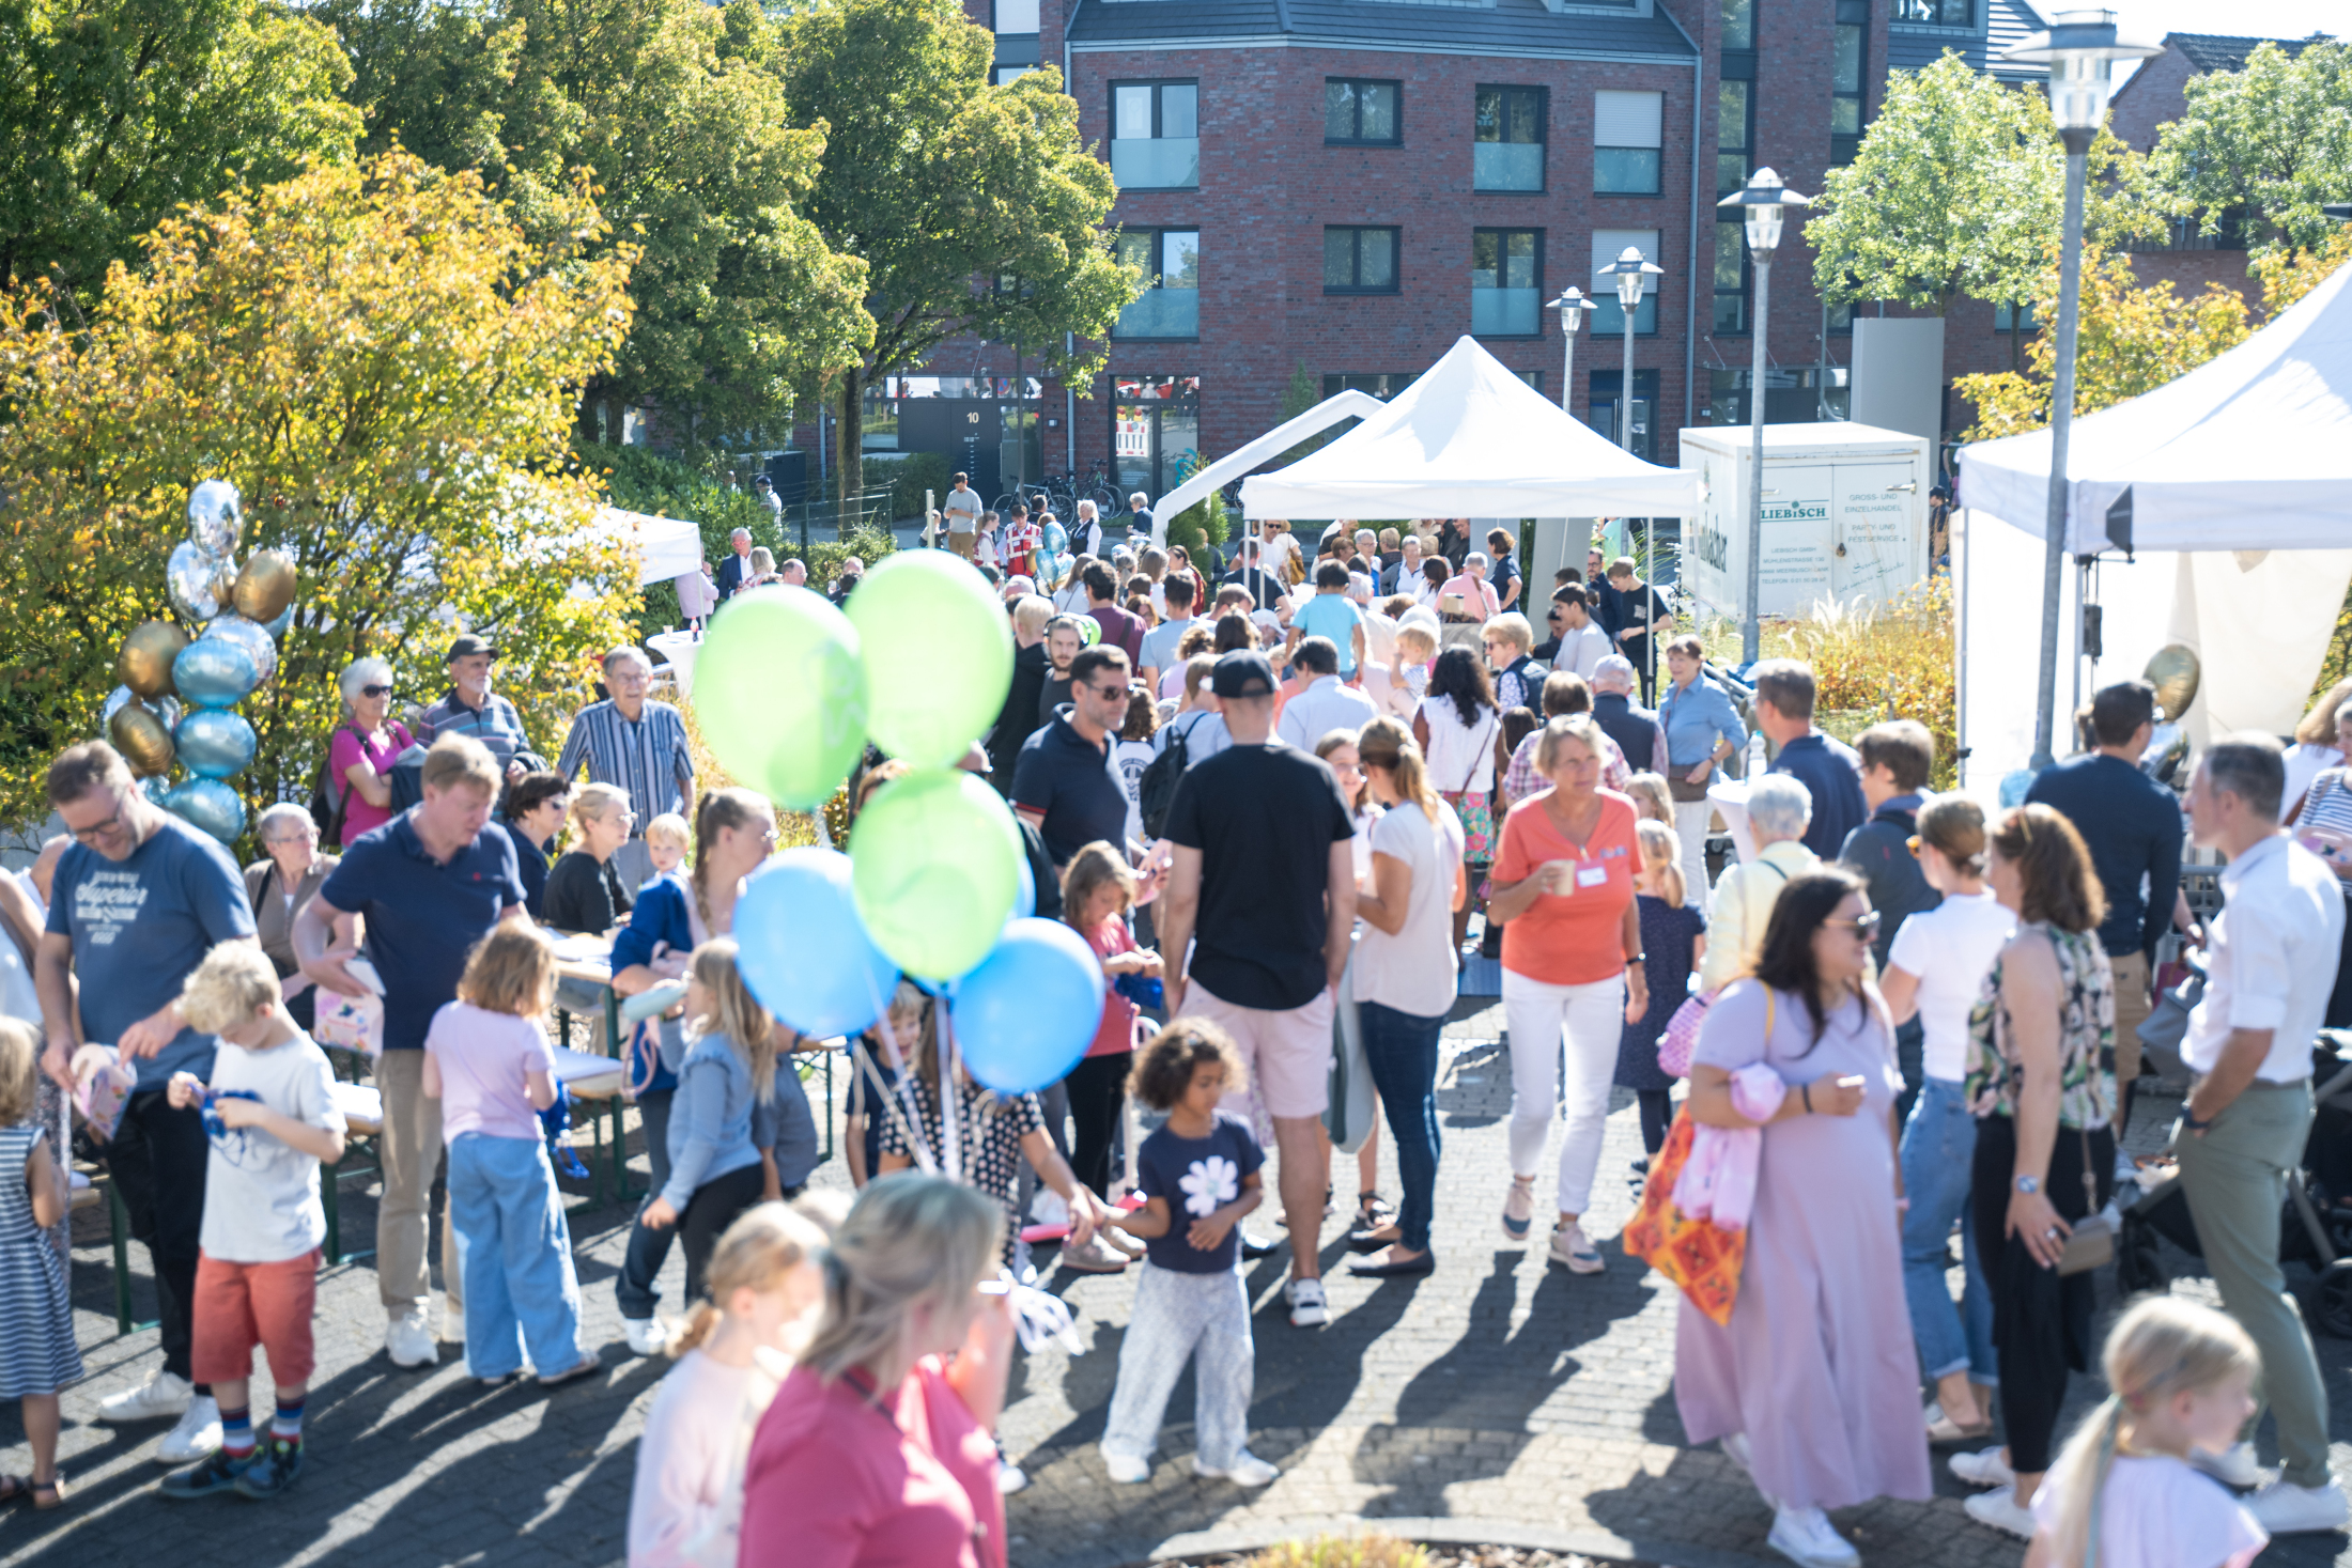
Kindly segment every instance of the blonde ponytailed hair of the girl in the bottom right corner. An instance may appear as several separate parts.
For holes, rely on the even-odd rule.
[[[2058,1497],[2051,1528],[2056,1568],[2082,1568],[2091,1547],[2091,1509],[2107,1486],[2107,1467],[2114,1450],[2129,1446],[2126,1439],[2147,1408],[2176,1394],[2201,1394],[2239,1380],[2251,1385],[2263,1371],[2263,1356],[2237,1319],[2178,1295],[2147,1295],[2117,1319],[2100,1371],[2114,1392],[2074,1429],[2046,1481]]]

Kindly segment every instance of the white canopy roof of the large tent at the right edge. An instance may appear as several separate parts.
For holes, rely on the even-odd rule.
[[[1959,456],[1959,498],[2044,536],[2051,433]],[[2352,268],[2230,353],[2074,421],[2067,550],[2112,550],[2107,508],[2131,489],[2136,550],[2352,545]]]

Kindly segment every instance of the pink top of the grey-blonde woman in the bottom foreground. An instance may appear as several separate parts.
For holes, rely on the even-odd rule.
[[[743,1467],[743,1563],[1004,1568],[997,1446],[938,1359],[887,1399],[863,1378],[786,1378]]]

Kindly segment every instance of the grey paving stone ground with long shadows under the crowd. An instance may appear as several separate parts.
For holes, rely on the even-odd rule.
[[[1491,999],[1465,999],[1446,1025],[1439,1107],[1437,1274],[1357,1281],[1343,1269],[1343,1218],[1324,1225],[1334,1321],[1289,1326],[1279,1258],[1251,1265],[1258,1302],[1251,1446],[1282,1465],[1263,1493],[1190,1474],[1190,1378],[1145,1486],[1112,1486],[1094,1450],[1117,1373],[1131,1274],[1051,1272],[1077,1312],[1087,1354],[1047,1349],[1016,1371],[1004,1448],[1030,1488],[1009,1502],[1016,1568],[1122,1568],[1155,1554],[1209,1554],[1319,1528],[1397,1528],[1444,1540],[1496,1540],[1677,1568],[1743,1568],[1766,1559],[1769,1514],[1729,1460],[1689,1448],[1672,1401],[1675,1293],[1628,1262],[1616,1234],[1637,1197],[1630,1095],[1609,1121],[1592,1232],[1609,1269],[1569,1276],[1531,1246],[1508,1246],[1496,1213],[1505,1182],[1510,1063]],[[2169,1105],[2152,1098],[2133,1143]],[[2161,1138],[2161,1133],[2154,1133]],[[1555,1138],[1557,1150],[1557,1138]],[[1383,1150],[1385,1157],[1385,1150]],[[1383,1185],[1395,1197],[1392,1166]],[[642,1182],[644,1159],[635,1157]],[[1538,1182],[1550,1201],[1550,1164]],[[840,1161],[818,1185],[847,1185]],[[1338,1180],[1345,1208],[1348,1166]],[[1272,1215],[1254,1218],[1279,1234]],[[353,1182],[346,1237],[365,1246],[372,1192]],[[169,1505],[148,1460],[162,1427],[111,1429],[96,1401],[155,1363],[153,1328],[118,1338],[103,1208],[78,1215],[75,1309],[89,1378],[66,1392],[64,1467],[75,1483],[59,1514],[0,1514],[0,1563],[113,1568],[209,1563],[619,1563],[626,1549],[635,1441],[663,1363],[621,1345],[612,1279],[626,1211],[574,1192],[572,1234],[588,1300],[588,1340],[604,1373],[555,1394],[487,1392],[456,1349],[437,1371],[405,1373],[381,1354],[383,1316],[369,1260],[320,1276],[320,1371],[308,1406],[310,1460],[280,1502]],[[2176,1291],[2211,1300],[2194,1260],[2169,1253]],[[132,1248],[136,1295],[146,1260]],[[673,1258],[663,1279],[680,1288]],[[2336,1410],[2338,1472],[2352,1476],[2352,1345],[2317,1340]],[[2100,1389],[2077,1380],[2074,1410]],[[259,1401],[256,1401],[259,1403]],[[2270,1434],[2263,1436],[2272,1455]],[[14,1408],[0,1408],[0,1469],[28,1453]],[[1872,1568],[2013,1568],[2020,1544],[1969,1521],[1966,1488],[1938,1467],[1931,1502],[1875,1502],[1839,1514]],[[195,1528],[191,1528],[195,1526]],[[2343,1535],[2274,1544],[2263,1563],[2352,1561]]]

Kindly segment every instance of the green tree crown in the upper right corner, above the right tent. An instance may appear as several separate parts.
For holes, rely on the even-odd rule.
[[[2190,78],[2185,96],[2150,160],[2166,207],[2206,235],[2241,219],[2258,249],[2321,244],[2319,207],[2352,200],[2352,45],[2288,56],[2265,42],[2244,71]]]

